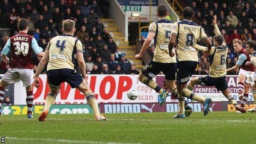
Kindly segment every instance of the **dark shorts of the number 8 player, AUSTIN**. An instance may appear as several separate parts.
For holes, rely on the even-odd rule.
[[[181,61],[177,62],[177,83],[178,84],[186,84],[192,74],[194,73],[195,69],[197,68],[198,62],[194,61]]]

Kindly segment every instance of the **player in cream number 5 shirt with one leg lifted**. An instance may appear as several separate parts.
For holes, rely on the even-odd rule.
[[[152,78],[158,75],[161,71],[165,74],[165,80],[168,89],[170,89],[176,97],[178,91],[175,85],[176,75],[176,56],[170,57],[169,53],[175,54],[175,51],[168,50],[168,42],[171,34],[173,23],[169,21],[167,7],[159,5],[157,9],[158,21],[149,25],[149,34],[142,46],[139,54],[135,55],[137,59],[142,57],[143,53],[149,48],[151,41],[154,39],[155,51],[153,60],[146,64],[139,73],[139,81],[157,91],[160,96],[160,106],[164,105],[168,91],[162,89]],[[192,109],[191,107],[187,107]]]

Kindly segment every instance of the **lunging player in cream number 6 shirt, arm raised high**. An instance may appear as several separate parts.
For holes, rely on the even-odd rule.
[[[210,51],[210,73],[206,76],[200,76],[193,78],[187,85],[187,88],[191,91],[195,85],[203,86],[215,86],[217,90],[222,91],[222,94],[232,103],[236,110],[245,113],[246,110],[243,107],[239,107],[233,96],[229,93],[228,84],[226,81],[226,57],[229,48],[226,46],[224,37],[221,35],[218,25],[216,24],[217,16],[213,18],[213,26],[215,27],[216,35],[213,37],[213,44]],[[196,45],[198,50],[206,50],[206,47]]]

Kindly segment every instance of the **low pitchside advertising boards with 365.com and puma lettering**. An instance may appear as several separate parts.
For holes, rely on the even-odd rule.
[[[203,112],[203,105],[201,103],[189,103],[193,108],[193,112]],[[245,108],[252,108],[254,103],[247,102]],[[178,103],[166,103],[160,107],[159,103],[100,103],[101,113],[140,113],[140,112],[178,112]],[[33,113],[40,114],[43,110],[43,105],[34,105]],[[212,102],[210,111],[229,111],[235,112],[235,107],[227,102]],[[27,114],[27,105],[3,105],[3,115],[20,115]],[[78,105],[52,105],[50,107],[50,114],[88,114],[93,113],[88,104]],[[1,117],[1,116],[0,116]]]

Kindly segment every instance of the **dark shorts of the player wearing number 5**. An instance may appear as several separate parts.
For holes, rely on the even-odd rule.
[[[165,74],[166,80],[175,80],[176,69],[177,63],[160,63],[149,61],[149,63],[143,67],[142,73],[146,75],[146,77],[152,79],[155,77],[155,75],[158,75],[162,71],[162,73]]]

